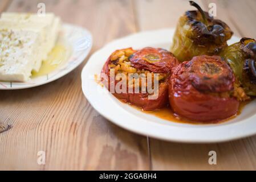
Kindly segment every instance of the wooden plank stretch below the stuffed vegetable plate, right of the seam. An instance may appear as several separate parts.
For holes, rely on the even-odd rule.
[[[154,170],[255,170],[256,137],[215,144],[181,144],[151,139]],[[217,165],[210,165],[215,151]]]

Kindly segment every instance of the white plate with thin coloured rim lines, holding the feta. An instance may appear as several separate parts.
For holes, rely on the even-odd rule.
[[[51,73],[31,78],[28,82],[0,81],[0,90],[26,89],[44,85],[67,75],[67,73],[70,73],[78,67],[84,59],[86,59],[86,56],[91,50],[92,35],[85,28],[73,26],[71,24],[63,24],[62,36],[66,41],[67,46],[71,48],[71,55],[64,64],[60,65]]]

